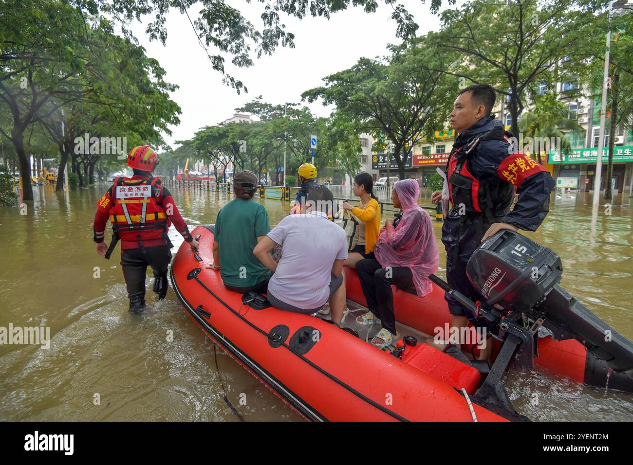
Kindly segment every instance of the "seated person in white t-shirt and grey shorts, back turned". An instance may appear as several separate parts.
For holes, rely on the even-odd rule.
[[[308,193],[306,213],[286,216],[253,253],[274,273],[268,282],[268,301],[274,307],[312,314],[329,302],[332,321],[340,325],[348,248],[343,228],[328,219],[334,205],[332,192],[315,185]],[[275,245],[282,245],[279,264],[268,253]]]

